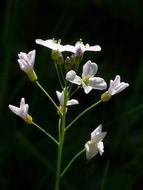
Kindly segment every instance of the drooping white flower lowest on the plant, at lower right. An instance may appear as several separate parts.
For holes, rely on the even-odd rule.
[[[102,125],[100,124],[92,133],[91,140],[85,144],[86,158],[91,159],[99,152],[100,155],[104,152],[104,139],[106,132],[102,132]]]

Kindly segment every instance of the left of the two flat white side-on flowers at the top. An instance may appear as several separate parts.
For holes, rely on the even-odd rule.
[[[65,47],[60,44],[60,41],[57,42],[54,39],[49,39],[49,40],[37,39],[36,43],[55,51],[59,52],[65,51]]]

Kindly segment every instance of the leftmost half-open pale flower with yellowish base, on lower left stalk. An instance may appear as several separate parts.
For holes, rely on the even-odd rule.
[[[25,122],[32,123],[32,117],[28,114],[29,105],[25,104],[24,98],[21,98],[20,107],[13,105],[9,105],[8,107],[13,113],[24,119]]]

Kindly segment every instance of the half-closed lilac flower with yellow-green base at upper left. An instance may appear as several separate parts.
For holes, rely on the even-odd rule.
[[[28,75],[31,81],[37,80],[37,75],[33,69],[35,62],[35,54],[36,54],[35,50],[30,51],[28,54],[24,52],[20,52],[18,54],[19,57],[18,62],[20,69]]]

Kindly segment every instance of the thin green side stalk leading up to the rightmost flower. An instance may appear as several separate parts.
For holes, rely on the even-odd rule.
[[[90,111],[92,108],[97,106],[99,103],[101,103],[102,100],[99,100],[98,102],[92,104],[87,109],[85,109],[83,112],[81,112],[66,128],[65,131],[67,131],[81,116],[83,116],[86,112]]]

